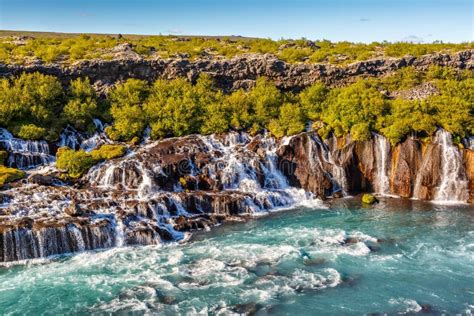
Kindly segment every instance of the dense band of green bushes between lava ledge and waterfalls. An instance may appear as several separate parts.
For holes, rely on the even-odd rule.
[[[410,89],[430,81],[439,90],[423,100],[391,98],[386,91]],[[372,132],[393,144],[407,135],[431,135],[443,127],[458,137],[474,134],[474,79],[471,73],[431,67],[425,72],[405,68],[392,76],[359,80],[329,89],[316,83],[295,94],[282,92],[259,78],[248,91],[223,93],[203,74],[197,82],[129,79],[98,98],[88,79],[63,89],[58,80],[23,74],[0,80],[0,126],[27,139],[57,139],[67,124],[91,130],[94,117],[109,121],[107,134],[132,141],[151,128],[154,139],[193,133],[267,130],[276,137],[313,128],[326,137],[350,133],[356,140]]]

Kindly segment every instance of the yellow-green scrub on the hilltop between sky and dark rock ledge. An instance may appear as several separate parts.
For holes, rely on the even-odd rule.
[[[1,34],[0,34],[1,35]],[[35,34],[34,37],[0,37],[0,62],[24,63],[31,58],[43,62],[73,62],[94,58],[112,59],[114,47],[121,43],[133,45],[133,51],[144,58],[203,56],[234,57],[244,53],[270,53],[287,62],[326,62],[347,64],[372,57],[405,55],[420,56],[433,52],[459,51],[474,48],[474,43],[450,44],[406,42],[371,44],[330,42],[327,40],[271,40],[239,37],[177,37],[177,36],[110,36]]]

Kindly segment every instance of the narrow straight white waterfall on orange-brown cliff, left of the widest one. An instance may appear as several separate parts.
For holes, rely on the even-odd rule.
[[[375,192],[380,195],[390,193],[390,178],[388,175],[390,167],[390,144],[382,135],[375,134],[375,161],[377,172],[374,179]]]

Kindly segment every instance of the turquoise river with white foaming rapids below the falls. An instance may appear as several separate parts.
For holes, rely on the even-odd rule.
[[[0,266],[0,314],[474,312],[474,208],[340,199],[125,247]]]

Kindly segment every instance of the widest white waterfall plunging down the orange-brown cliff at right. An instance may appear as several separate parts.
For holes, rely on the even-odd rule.
[[[445,130],[436,132],[435,143],[441,146],[441,183],[436,189],[435,200],[466,202],[469,181],[459,148],[453,145],[451,134]]]

